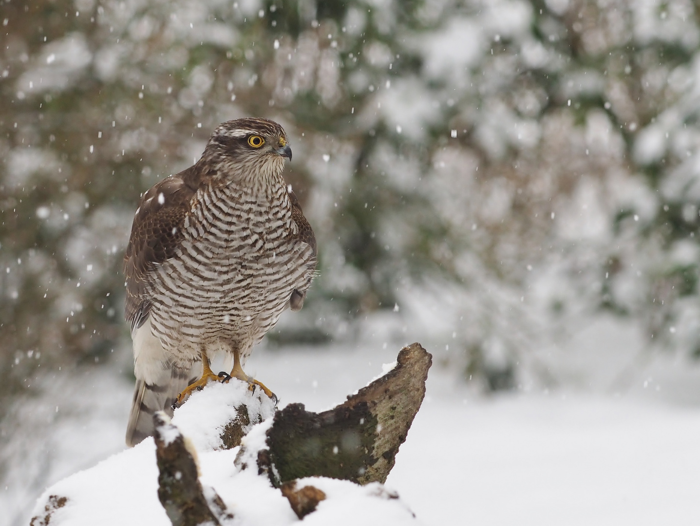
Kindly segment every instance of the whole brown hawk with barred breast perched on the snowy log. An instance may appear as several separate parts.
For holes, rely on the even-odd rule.
[[[214,353],[271,394],[241,365],[286,307],[302,307],[316,268],[314,233],[281,176],[285,157],[276,122],[224,122],[197,164],[141,198],[125,255],[137,377],[129,445],[153,433],[155,411],[172,414],[216,378]]]

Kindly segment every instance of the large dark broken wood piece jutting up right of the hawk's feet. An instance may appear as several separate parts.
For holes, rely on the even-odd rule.
[[[394,369],[330,411],[312,413],[303,404],[277,411],[263,458],[272,483],[307,476],[384,483],[425,396],[431,364],[432,356],[412,343]]]

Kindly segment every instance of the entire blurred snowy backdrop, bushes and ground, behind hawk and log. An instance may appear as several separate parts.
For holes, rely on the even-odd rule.
[[[695,525],[692,0],[0,0],[0,525],[123,449],[139,194],[279,120],[321,275],[246,370],[321,410],[433,353],[422,523]]]

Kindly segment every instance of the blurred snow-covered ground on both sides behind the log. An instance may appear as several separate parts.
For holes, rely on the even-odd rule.
[[[377,376],[397,351],[381,344],[260,350],[246,369],[282,404],[319,411]],[[426,525],[700,524],[700,375],[658,358],[629,377],[612,394],[560,389],[484,398],[436,363],[387,485]],[[131,387],[97,381],[83,390],[92,400],[87,411],[97,414],[74,427],[71,420],[49,427],[58,436],[48,441],[47,483],[121,448]],[[2,525],[27,524],[28,506],[43,489],[17,480],[0,497],[10,511],[0,515]]]

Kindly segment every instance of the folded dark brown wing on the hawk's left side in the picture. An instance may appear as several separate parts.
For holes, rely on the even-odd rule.
[[[183,223],[195,190],[186,172],[160,181],[141,198],[124,256],[126,301],[124,317],[132,332],[144,325],[151,311],[148,274],[155,265],[174,257],[183,239]]]

